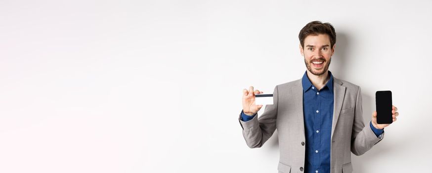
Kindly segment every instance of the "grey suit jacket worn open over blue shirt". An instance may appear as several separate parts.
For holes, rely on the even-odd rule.
[[[365,127],[360,87],[333,78],[334,111],[331,138],[331,173],[351,173],[351,152],[362,155],[381,139]],[[244,122],[239,117],[243,136],[251,148],[261,147],[278,130],[279,173],[303,173],[305,135],[303,122],[302,80],[278,85],[273,91],[273,105],[264,113]]]

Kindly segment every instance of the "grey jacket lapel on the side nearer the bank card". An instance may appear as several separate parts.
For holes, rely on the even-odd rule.
[[[294,95],[294,101],[296,102],[296,114],[299,122],[302,124],[298,127],[300,128],[302,141],[305,141],[305,133],[304,133],[304,118],[303,118],[303,87],[302,80],[299,80],[295,87],[291,88],[291,94]]]

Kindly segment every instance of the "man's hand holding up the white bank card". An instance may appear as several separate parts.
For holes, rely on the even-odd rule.
[[[243,89],[243,113],[246,115],[252,116],[261,109],[262,105],[255,104],[255,94],[262,94],[263,92],[256,89],[254,91],[254,87],[249,87],[249,90]]]

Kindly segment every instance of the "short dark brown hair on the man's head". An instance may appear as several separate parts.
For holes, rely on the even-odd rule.
[[[330,37],[330,47],[336,43],[336,32],[333,25],[330,23],[322,23],[320,21],[309,22],[300,30],[299,40],[304,48],[304,39],[309,36],[316,36],[318,34],[327,34]]]

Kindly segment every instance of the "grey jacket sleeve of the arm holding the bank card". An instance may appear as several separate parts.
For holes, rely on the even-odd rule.
[[[278,95],[276,86],[273,91],[273,104],[266,105],[264,113],[261,116],[258,117],[258,114],[256,114],[252,120],[244,122],[241,119],[240,113],[239,122],[243,129],[243,137],[250,148],[261,147],[273,135],[276,130],[277,106]]]

